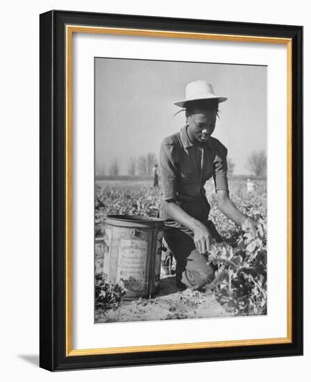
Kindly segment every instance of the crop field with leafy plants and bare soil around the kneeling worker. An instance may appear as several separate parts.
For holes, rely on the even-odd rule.
[[[242,231],[217,207],[214,185],[206,185],[211,206],[210,219],[223,241],[212,244],[208,262],[216,267],[215,279],[204,290],[177,290],[174,276],[161,275],[160,293],[153,299],[125,301],[124,285],[103,282],[103,258],[95,254],[95,321],[121,322],[150,319],[180,319],[267,314],[266,239]],[[245,215],[266,224],[267,188],[255,181],[247,192],[245,181],[230,181],[230,198]],[[154,217],[160,190],[149,181],[97,181],[95,193],[95,236],[103,236],[107,214]],[[174,274],[174,269],[171,271]]]

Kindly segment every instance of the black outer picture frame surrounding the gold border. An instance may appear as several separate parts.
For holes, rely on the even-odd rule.
[[[291,341],[231,347],[68,354],[66,306],[67,25],[288,39],[292,49]],[[303,27],[51,10],[40,15],[40,367],[51,371],[303,354]]]

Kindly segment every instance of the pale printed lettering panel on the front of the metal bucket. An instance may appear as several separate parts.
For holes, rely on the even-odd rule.
[[[146,285],[146,253],[146,241],[120,240],[117,279],[126,289],[141,290]]]

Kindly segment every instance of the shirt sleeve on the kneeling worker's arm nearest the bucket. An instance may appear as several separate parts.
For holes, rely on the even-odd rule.
[[[160,174],[162,180],[162,199],[174,200],[177,196],[178,151],[171,140],[162,141],[160,147]]]

